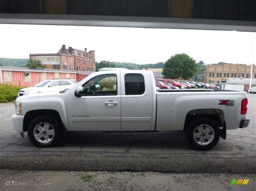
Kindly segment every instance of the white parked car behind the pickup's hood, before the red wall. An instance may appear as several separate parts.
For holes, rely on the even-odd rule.
[[[23,88],[19,90],[18,96],[24,96],[28,94],[35,94],[40,92],[48,91],[61,91],[64,89],[69,89],[77,83],[76,80],[70,79],[55,79],[55,80],[44,80],[34,87]]]

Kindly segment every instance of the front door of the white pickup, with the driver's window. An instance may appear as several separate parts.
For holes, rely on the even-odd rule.
[[[121,131],[120,72],[92,77],[80,97],[72,91],[67,116],[72,131]]]

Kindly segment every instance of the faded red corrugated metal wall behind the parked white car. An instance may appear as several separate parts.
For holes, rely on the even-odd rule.
[[[56,79],[56,74],[61,79],[76,79],[80,81],[87,75],[75,73],[56,73],[56,72],[24,72],[24,71],[1,71],[2,83],[12,84],[15,86],[31,87],[44,80]],[[25,75],[29,73],[29,75]],[[68,77],[69,76],[69,77]]]

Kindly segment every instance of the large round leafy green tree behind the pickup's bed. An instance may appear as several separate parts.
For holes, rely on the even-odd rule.
[[[189,79],[192,78],[198,69],[195,60],[190,58],[187,54],[175,54],[165,62],[163,75],[171,79]]]

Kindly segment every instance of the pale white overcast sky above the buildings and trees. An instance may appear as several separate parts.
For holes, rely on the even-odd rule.
[[[0,24],[0,58],[57,53],[62,45],[95,50],[98,62],[157,63],[178,53],[206,64],[256,62],[252,32]]]

